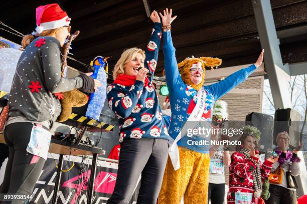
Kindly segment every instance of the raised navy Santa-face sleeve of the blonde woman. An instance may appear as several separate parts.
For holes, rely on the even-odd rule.
[[[151,74],[151,77],[149,78],[150,81],[152,81],[152,77],[154,76],[158,63],[161,35],[161,23],[155,23],[154,29],[152,29],[149,43],[147,44],[145,49],[146,57],[144,61],[144,66],[149,70],[149,73]]]

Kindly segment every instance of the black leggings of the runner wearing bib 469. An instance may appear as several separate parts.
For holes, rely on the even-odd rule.
[[[223,204],[225,196],[225,183],[215,184],[209,183],[208,187],[208,204]]]

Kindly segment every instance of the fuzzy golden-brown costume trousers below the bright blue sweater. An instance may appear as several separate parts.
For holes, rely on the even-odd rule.
[[[179,204],[182,199],[180,195],[183,195],[185,204],[207,203],[209,154],[179,147],[179,155],[181,168],[177,171],[171,159],[168,159],[158,203]]]

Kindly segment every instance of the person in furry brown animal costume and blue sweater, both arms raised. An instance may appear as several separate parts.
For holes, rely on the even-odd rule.
[[[164,29],[163,52],[172,121],[168,129],[171,136],[170,157],[159,195],[159,204],[180,203],[182,197],[185,204],[206,203],[208,202],[209,147],[208,145],[190,145],[191,137],[182,134],[182,127],[186,121],[191,121],[192,116],[199,118],[197,121],[210,121],[214,102],[245,81],[261,65],[264,51],[262,50],[255,64],[231,74],[218,83],[203,86],[205,66],[211,68],[219,66],[221,60],[192,57],[177,64],[170,31],[171,23],[177,16],[172,17],[172,10],[169,13],[168,9],[164,10],[164,15],[160,13],[160,16]],[[178,138],[181,138],[177,143],[179,147],[174,142]],[[201,138],[193,137],[193,140],[200,141]],[[174,148],[175,151],[174,146],[177,147]]]

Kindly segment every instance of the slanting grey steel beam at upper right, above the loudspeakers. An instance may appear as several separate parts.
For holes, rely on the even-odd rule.
[[[252,0],[252,5],[261,47],[265,50],[265,67],[275,109],[292,108],[287,87],[290,80],[289,67],[282,63],[270,1]]]

